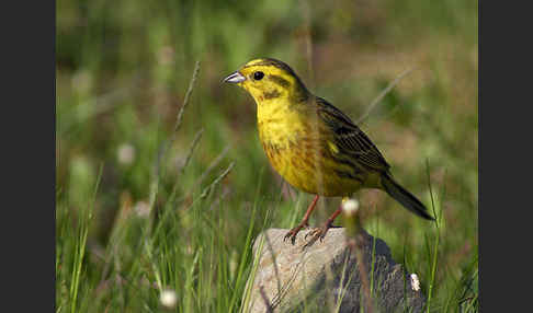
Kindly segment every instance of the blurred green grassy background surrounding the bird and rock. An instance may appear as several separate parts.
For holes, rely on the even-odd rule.
[[[362,190],[365,228],[419,275],[431,311],[477,308],[477,1],[56,5],[57,311],[157,311],[163,287],[179,312],[238,310],[249,236],[293,227],[313,198],[271,170],[252,98],[220,82],[259,57],[287,62],[354,120],[411,70],[360,126],[441,223]]]

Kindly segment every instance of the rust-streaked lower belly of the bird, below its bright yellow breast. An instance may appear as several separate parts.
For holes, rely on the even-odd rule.
[[[326,197],[350,196],[363,186],[363,176],[345,164],[333,161],[327,147],[313,140],[273,144],[263,149],[274,170],[293,187]]]

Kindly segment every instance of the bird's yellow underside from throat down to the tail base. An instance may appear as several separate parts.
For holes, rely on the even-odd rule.
[[[259,138],[274,170],[295,188],[322,196],[347,196],[361,182],[332,161],[338,152],[316,113],[290,107],[282,101],[258,105]]]

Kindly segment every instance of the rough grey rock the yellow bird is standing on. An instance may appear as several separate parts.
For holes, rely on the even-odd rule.
[[[317,241],[304,251],[304,237],[310,230],[300,231],[295,245],[283,241],[287,231],[270,229],[256,239],[258,267],[248,279],[243,312],[368,312],[359,264],[347,244],[344,229],[330,229],[324,242]],[[375,239],[365,231],[362,239],[363,270],[370,281]],[[410,275],[394,262],[379,239],[375,240],[373,269],[372,312],[423,310],[424,295],[413,290]]]

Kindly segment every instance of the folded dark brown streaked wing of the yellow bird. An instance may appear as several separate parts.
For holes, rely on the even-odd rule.
[[[324,98],[317,97],[316,104],[318,116],[333,130],[334,143],[343,153],[352,155],[359,163],[370,169],[388,171],[390,165],[350,117]]]

